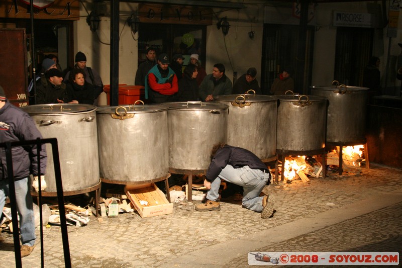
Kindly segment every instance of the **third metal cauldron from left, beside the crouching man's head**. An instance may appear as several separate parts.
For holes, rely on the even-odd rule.
[[[165,106],[168,107],[169,167],[178,171],[208,169],[212,147],[227,140],[228,106],[202,102]]]

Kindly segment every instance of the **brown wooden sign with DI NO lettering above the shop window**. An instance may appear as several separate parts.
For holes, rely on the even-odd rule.
[[[141,23],[211,25],[212,9],[171,5],[138,5]]]

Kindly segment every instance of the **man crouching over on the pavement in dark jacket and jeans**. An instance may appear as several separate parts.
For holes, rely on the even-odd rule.
[[[219,187],[221,180],[243,187],[242,205],[246,209],[261,212],[261,218],[273,215],[272,196],[259,196],[271,180],[267,166],[254,153],[224,143],[215,144],[204,186],[209,189],[204,204],[195,206],[197,211],[221,210]]]

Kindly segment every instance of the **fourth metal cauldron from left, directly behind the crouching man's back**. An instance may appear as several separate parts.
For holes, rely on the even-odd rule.
[[[229,106],[228,144],[245,148],[260,159],[276,155],[277,99],[264,95],[222,95]]]

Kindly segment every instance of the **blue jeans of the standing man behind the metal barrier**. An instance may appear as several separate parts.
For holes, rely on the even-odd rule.
[[[16,181],[17,210],[20,216],[20,233],[23,245],[35,244],[35,216],[32,197],[28,187],[28,178]],[[0,211],[3,213],[6,197],[10,195],[9,180],[0,180]],[[14,219],[13,219],[14,220]]]

